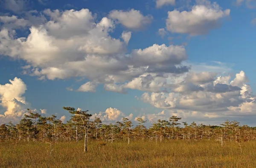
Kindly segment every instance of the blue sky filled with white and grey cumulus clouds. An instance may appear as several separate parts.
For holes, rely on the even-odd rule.
[[[255,37],[255,0],[0,0],[0,124],[70,106],[255,126]]]

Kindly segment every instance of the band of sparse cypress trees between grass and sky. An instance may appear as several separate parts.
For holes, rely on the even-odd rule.
[[[134,126],[128,118],[122,118],[115,124],[102,124],[99,117],[92,117],[88,111],[78,111],[75,108],[63,107],[71,115],[67,123],[56,119],[55,115],[44,117],[36,111],[27,109],[28,113],[16,125],[12,122],[0,125],[0,141],[40,141],[40,142],[78,142],[84,140],[84,151],[87,142],[101,140],[115,142],[149,140],[155,143],[163,140],[218,140],[224,142],[241,142],[256,139],[256,127],[239,125],[238,121],[226,120],[220,126],[198,125],[195,122],[180,123],[181,118],[172,116],[169,120],[157,120],[149,128],[146,120],[137,117]],[[183,126],[182,126],[183,125]]]

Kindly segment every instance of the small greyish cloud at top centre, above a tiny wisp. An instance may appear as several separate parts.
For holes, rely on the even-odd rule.
[[[152,16],[143,16],[140,11],[134,9],[130,11],[113,10],[109,13],[109,17],[132,30],[143,29],[150,25],[153,20]]]

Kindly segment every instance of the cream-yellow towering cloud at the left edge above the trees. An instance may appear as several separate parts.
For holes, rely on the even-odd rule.
[[[18,122],[26,114],[26,109],[30,108],[30,104],[22,96],[26,91],[26,84],[17,77],[9,82],[0,85],[0,105],[6,109],[0,114],[0,123]]]

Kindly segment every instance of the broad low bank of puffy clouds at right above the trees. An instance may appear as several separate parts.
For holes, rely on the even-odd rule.
[[[141,100],[156,108],[198,111],[207,113],[208,117],[213,113],[215,116],[230,115],[231,111],[233,115],[256,112],[253,110],[256,97],[250,85],[245,84],[247,77],[243,71],[236,74],[231,82],[230,76],[208,78],[208,75],[202,75],[202,80],[194,76],[188,74],[181,82],[182,85],[173,86],[171,93],[144,93]]]

